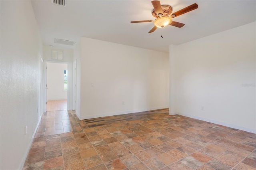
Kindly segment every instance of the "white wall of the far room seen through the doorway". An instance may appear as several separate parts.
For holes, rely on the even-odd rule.
[[[47,63],[47,100],[67,99],[68,91],[64,90],[64,70],[68,70],[68,64]]]

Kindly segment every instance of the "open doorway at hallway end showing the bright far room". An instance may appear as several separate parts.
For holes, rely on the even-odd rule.
[[[67,110],[68,64],[47,62],[46,111]]]

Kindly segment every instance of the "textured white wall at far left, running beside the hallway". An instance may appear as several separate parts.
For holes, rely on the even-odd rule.
[[[0,3],[0,169],[18,170],[23,167],[40,121],[42,42],[30,1]]]

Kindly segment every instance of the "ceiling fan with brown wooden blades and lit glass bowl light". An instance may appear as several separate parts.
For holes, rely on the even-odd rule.
[[[159,0],[153,0],[151,1],[151,3],[154,7],[151,13],[152,13],[152,16],[156,18],[156,20],[131,21],[131,23],[154,22],[155,26],[148,33],[154,32],[156,28],[164,28],[168,25],[181,28],[185,24],[172,21],[171,18],[175,18],[177,16],[180,16],[182,14],[185,14],[187,12],[190,12],[198,8],[198,5],[194,3],[190,6],[187,6],[186,8],[183,8],[177,12],[172,13],[173,8],[170,5],[161,5]]]

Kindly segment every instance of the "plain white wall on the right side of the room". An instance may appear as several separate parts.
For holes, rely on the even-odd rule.
[[[256,132],[255,22],[170,49],[172,112]]]

